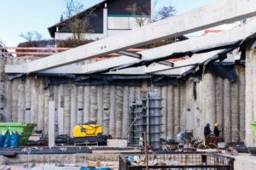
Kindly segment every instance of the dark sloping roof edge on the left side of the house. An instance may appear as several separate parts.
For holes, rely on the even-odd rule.
[[[67,23],[69,20],[72,20],[74,17],[83,16],[84,14],[90,13],[91,11],[95,10],[96,8],[102,7],[105,3],[110,3],[110,2],[113,2],[113,1],[115,1],[115,0],[103,0],[100,3],[96,3],[95,5],[91,6],[90,8],[84,9],[79,14],[75,14],[72,17],[70,17],[66,20],[62,20],[61,22],[56,23],[54,26],[49,26],[48,31],[49,31],[50,37],[55,37],[56,27]]]

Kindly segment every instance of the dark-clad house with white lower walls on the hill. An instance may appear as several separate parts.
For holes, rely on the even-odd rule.
[[[48,28],[49,34],[55,40],[73,37],[70,23],[74,17],[78,20],[89,18],[91,32],[85,31],[87,39],[102,39],[111,37],[136,27],[144,26],[151,19],[152,2],[154,0],[104,0],[101,3],[85,9],[75,16],[62,20]]]

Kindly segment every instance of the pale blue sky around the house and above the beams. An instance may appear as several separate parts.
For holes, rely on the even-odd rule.
[[[79,1],[84,4],[84,8],[88,8],[102,0]],[[49,39],[47,28],[59,22],[65,10],[65,0],[0,0],[0,2],[0,41],[6,47],[16,47],[19,42],[25,42],[20,34],[26,34],[27,31],[38,31],[44,39]],[[157,2],[155,10],[171,3],[177,9],[177,14],[181,14],[215,3],[217,0],[157,0]]]

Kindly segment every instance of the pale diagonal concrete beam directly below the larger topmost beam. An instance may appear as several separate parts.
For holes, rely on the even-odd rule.
[[[134,64],[142,60],[159,59],[161,57],[165,57],[173,53],[186,52],[186,51],[196,50],[200,48],[215,47],[228,42],[236,42],[238,40],[245,39],[247,37],[252,36],[254,32],[256,32],[256,19],[251,20],[244,26],[239,26],[229,31],[222,31],[222,32],[210,34],[204,37],[197,37],[197,38],[189,39],[183,42],[168,44],[159,48],[151,48],[148,50],[144,50],[138,53],[138,54],[142,54],[143,56],[141,60],[134,59],[127,56],[120,56],[117,58],[106,59],[106,60],[98,61],[95,63],[82,65],[81,66],[82,73],[86,74],[86,73],[93,73],[96,71],[104,71],[108,68],[112,68],[120,65]],[[199,63],[201,61],[202,61],[201,59],[198,59]],[[165,65],[161,65],[161,66],[162,67],[160,68],[162,69],[170,68],[170,66],[165,66]],[[175,66],[176,65],[174,64],[174,68]],[[178,65],[178,66],[181,66],[181,65]],[[149,70],[147,69],[147,71]]]

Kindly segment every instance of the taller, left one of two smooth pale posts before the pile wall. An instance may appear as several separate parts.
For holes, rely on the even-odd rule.
[[[49,101],[49,147],[55,146],[55,102]]]

